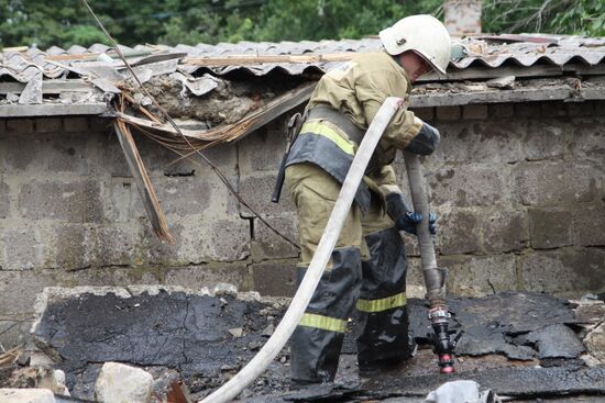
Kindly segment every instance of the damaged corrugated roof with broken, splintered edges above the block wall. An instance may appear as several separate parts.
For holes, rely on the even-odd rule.
[[[345,63],[338,56],[378,51],[381,47],[378,38],[364,38],[174,47],[138,45],[121,46],[120,49],[143,81],[155,76],[176,77],[183,82],[185,92],[200,97],[216,87],[216,77],[229,79],[234,75],[240,78],[242,75],[278,75],[315,81],[324,71]],[[298,56],[314,57],[295,60]],[[254,63],[255,57],[264,57],[266,63]],[[603,75],[605,37],[477,35],[454,43],[447,76],[428,75],[419,80],[420,86],[417,87],[420,88],[413,96],[413,105],[603,99],[603,80],[594,80],[594,77]],[[53,46],[45,52],[35,47],[4,48],[0,53],[0,116],[108,112],[110,109],[106,101],[120,92],[120,83],[130,76],[124,64],[107,45],[96,44],[88,48],[75,45],[68,49]],[[552,86],[547,88],[542,82],[529,88],[532,91],[529,96],[528,88],[525,88],[527,82],[521,88],[515,88],[514,83],[519,78],[562,79],[564,76],[587,78],[583,79],[580,88],[569,80],[551,82]],[[506,77],[513,77],[513,81],[490,85],[490,79]],[[469,81],[481,85],[473,86]],[[422,88],[422,82],[427,82],[428,87]],[[521,96],[503,98],[505,93],[515,91],[521,91]],[[481,92],[480,97],[476,97],[477,92]],[[473,97],[460,97],[461,93],[473,93]],[[20,108],[25,105],[48,108]]]

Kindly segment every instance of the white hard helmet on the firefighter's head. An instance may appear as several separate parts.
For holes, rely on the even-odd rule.
[[[381,31],[381,41],[388,54],[395,56],[414,51],[433,69],[446,74],[450,63],[450,34],[441,21],[431,15],[410,15]]]

